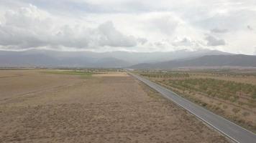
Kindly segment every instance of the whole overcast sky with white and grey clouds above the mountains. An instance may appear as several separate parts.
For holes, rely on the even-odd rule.
[[[256,54],[256,1],[1,0],[0,49]]]

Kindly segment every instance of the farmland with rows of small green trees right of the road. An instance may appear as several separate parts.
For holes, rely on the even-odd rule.
[[[255,71],[137,71],[196,104],[256,131]]]

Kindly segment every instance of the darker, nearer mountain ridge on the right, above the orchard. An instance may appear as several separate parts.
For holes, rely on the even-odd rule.
[[[194,59],[179,59],[157,63],[136,64],[132,69],[173,69],[178,67],[196,66],[254,66],[256,67],[256,56],[234,54],[234,55],[209,55]]]

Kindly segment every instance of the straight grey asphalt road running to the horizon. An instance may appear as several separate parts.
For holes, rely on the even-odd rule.
[[[169,89],[166,89],[159,84],[150,82],[150,80],[137,76],[136,74],[129,72],[128,74],[144,82],[148,86],[152,87],[152,89],[155,89],[157,92],[160,92],[160,94],[163,94],[163,97],[170,99],[171,101],[175,102],[175,104],[178,104],[188,112],[191,112],[199,119],[211,125],[211,127],[214,127],[222,134],[234,140],[234,142],[256,143],[256,134],[248,131],[247,129],[244,129],[239,125],[234,124],[233,122],[230,122],[229,120],[224,119],[223,117],[220,117],[219,115],[214,114],[213,112],[210,112],[209,110],[204,109],[203,107],[200,107],[197,104],[194,104],[193,102],[178,96],[178,94],[171,92]]]

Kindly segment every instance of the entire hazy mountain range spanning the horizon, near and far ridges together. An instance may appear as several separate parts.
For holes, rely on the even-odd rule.
[[[201,49],[197,51],[0,51],[1,67],[92,67],[130,69],[173,69],[197,66],[255,66],[256,56]]]

